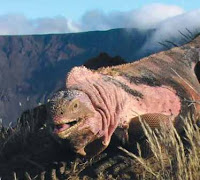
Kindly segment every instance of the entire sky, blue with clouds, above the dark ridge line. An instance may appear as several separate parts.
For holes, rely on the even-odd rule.
[[[169,30],[165,24],[178,31],[189,27],[195,30],[200,25],[199,0],[0,0],[0,2],[0,35],[71,33],[114,28],[162,29],[161,27],[164,27],[163,30]]]

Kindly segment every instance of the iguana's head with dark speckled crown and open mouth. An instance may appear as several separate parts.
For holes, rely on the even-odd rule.
[[[96,139],[101,127],[89,97],[78,90],[59,91],[49,104],[53,134],[68,140],[75,152],[86,155],[85,147]]]

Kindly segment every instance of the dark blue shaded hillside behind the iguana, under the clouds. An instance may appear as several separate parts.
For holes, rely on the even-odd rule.
[[[154,32],[114,29],[55,35],[0,36],[0,119],[4,124],[16,122],[24,110],[46,102],[53,92],[62,88],[65,76],[72,67],[84,64],[101,52],[112,57],[120,56],[125,61],[134,61],[158,51],[142,51],[143,45]],[[159,50],[164,49],[164,46],[160,47]],[[94,64],[99,62],[93,61]],[[99,65],[106,64],[110,62]]]

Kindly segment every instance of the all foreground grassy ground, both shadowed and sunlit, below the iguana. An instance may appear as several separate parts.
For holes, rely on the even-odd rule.
[[[139,142],[137,152],[114,144],[92,159],[63,150],[45,128],[1,126],[0,177],[196,180],[200,177],[200,131],[190,118],[184,121],[185,132],[181,135],[173,127],[162,125],[152,131],[142,123],[147,143]],[[147,158],[142,155],[144,144],[150,152]]]

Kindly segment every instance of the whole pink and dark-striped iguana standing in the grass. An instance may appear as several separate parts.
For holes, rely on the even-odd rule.
[[[73,68],[66,91],[56,93],[50,103],[54,134],[86,155],[104,150],[119,128],[128,132],[127,140],[134,139],[138,117],[153,128],[164,121],[181,131],[182,118],[199,116],[199,48],[197,37],[133,63],[97,71]]]

